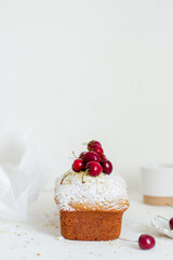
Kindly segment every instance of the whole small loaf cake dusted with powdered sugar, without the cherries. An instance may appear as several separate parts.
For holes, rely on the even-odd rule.
[[[54,198],[65,238],[109,240],[119,237],[122,214],[129,207],[127,184],[119,174],[102,172],[91,177],[71,170],[63,181],[56,181]]]

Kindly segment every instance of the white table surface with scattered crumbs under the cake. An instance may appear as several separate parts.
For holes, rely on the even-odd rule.
[[[138,198],[138,199],[136,199]],[[141,250],[135,243],[120,239],[111,242],[71,242],[59,235],[58,213],[53,193],[42,192],[30,206],[26,222],[0,222],[0,259],[173,259],[173,239],[155,232],[150,219],[155,214],[173,216],[169,207],[144,205],[139,195],[131,198],[124,213],[121,237],[137,239],[148,233],[156,237],[156,247]]]

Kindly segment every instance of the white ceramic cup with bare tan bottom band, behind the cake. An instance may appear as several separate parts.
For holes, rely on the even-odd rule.
[[[173,165],[158,164],[142,167],[142,191],[144,203],[173,205]]]

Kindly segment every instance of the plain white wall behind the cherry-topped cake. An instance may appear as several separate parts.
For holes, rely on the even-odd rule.
[[[137,190],[173,161],[172,115],[171,0],[0,0],[0,133],[32,128],[54,178],[96,139]]]

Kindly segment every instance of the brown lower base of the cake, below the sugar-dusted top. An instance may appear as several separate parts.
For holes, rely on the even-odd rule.
[[[71,240],[111,240],[119,237],[123,211],[61,211],[61,234]]]

